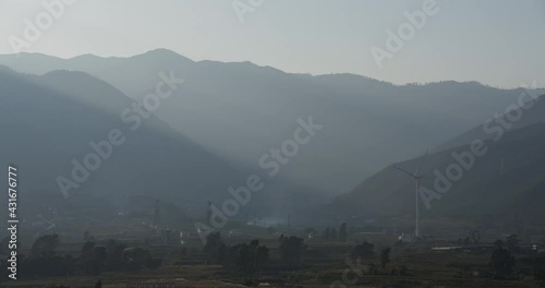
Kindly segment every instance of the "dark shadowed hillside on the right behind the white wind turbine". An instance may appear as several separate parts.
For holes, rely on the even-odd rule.
[[[538,103],[544,98],[542,96]],[[545,105],[541,103],[535,111],[545,113]],[[438,192],[440,199],[431,200],[429,209],[426,209],[425,201],[421,199],[422,215],[468,217],[516,211],[528,219],[541,221],[545,216],[542,208],[545,205],[545,123],[534,123],[507,132],[497,142],[493,139],[483,140],[486,154],[476,156],[474,165],[470,169],[463,169],[460,180],[448,178],[447,168],[459,163],[452,157],[452,153],[462,155],[470,152],[470,145],[427,156],[419,172],[424,177],[421,185]],[[468,159],[465,158],[467,163]],[[420,161],[421,157],[397,163],[396,166],[413,171]],[[436,170],[451,183],[451,188],[445,193],[435,187],[438,179]],[[446,185],[441,184],[439,188]],[[414,183],[409,177],[388,166],[365,179],[350,193],[338,196],[325,211],[366,217],[414,215]]]

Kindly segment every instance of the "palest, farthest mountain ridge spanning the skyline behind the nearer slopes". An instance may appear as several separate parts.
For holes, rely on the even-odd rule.
[[[154,89],[159,72],[173,70],[186,82],[155,115],[240,170],[263,173],[259,157],[293,136],[296,119],[312,116],[324,129],[274,181],[328,197],[464,133],[519,94],[475,82],[397,86],[353,74],[312,76],[251,62],[195,62],[166,49],[129,58],[22,53],[0,56],[0,63],[26,73],[83,71],[136,100]]]

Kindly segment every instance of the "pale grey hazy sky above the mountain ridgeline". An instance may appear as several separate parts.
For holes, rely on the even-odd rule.
[[[55,0],[46,0],[47,2]],[[240,0],[242,3],[256,0]],[[24,39],[43,1],[0,0],[0,53]],[[393,83],[480,81],[545,86],[545,1],[437,0],[438,12],[379,69],[387,29],[424,0],[264,0],[241,23],[232,0],[78,0],[31,43],[62,58],[132,56],[168,48],[193,60],[252,61],[287,72],[349,72]]]

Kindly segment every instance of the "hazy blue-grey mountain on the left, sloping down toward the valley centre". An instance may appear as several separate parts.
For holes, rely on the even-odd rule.
[[[121,207],[129,195],[150,194],[201,215],[208,200],[222,201],[227,188],[242,179],[154,116],[130,130],[120,113],[134,100],[86,73],[37,76],[0,67],[0,155],[2,163],[20,168],[23,195],[33,200],[25,202],[26,212],[31,205],[57,207],[90,196]],[[63,200],[57,177],[72,179],[72,159],[83,164],[95,153],[89,142],[107,140],[111,129],[119,129],[125,142]]]

